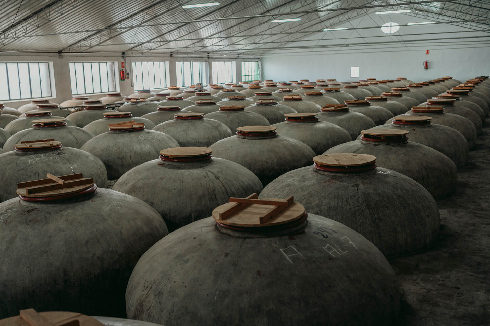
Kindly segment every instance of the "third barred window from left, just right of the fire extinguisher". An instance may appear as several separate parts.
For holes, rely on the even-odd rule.
[[[134,90],[167,87],[168,62],[133,62]]]

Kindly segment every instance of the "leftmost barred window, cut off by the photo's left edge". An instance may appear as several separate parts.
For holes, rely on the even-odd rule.
[[[0,63],[0,101],[50,96],[48,62]]]

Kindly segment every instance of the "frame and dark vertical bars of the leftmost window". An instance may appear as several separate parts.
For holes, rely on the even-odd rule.
[[[27,81],[28,81],[28,84],[29,84],[29,96],[28,97],[22,97],[23,96],[23,88],[25,89],[25,87],[22,87],[22,84],[24,82],[26,82],[25,80],[22,81],[23,78],[21,77],[24,77],[25,75],[21,76],[21,72],[20,72],[20,68],[19,68],[19,65],[23,65],[25,64],[27,66],[27,71],[26,71],[26,74],[27,74]],[[31,65],[36,65],[37,64],[37,77],[39,78],[37,81],[39,83],[39,93],[40,93],[40,96],[33,96],[33,78],[32,78],[32,73],[31,73]],[[45,75],[44,77],[47,78],[47,80],[43,80],[42,78],[42,68],[41,68],[41,64],[45,64],[46,65],[46,71],[45,71],[45,74],[47,73],[47,75]],[[56,91],[55,91],[55,85],[54,85],[54,80],[53,80],[53,74],[52,74],[52,65],[53,63],[50,62],[50,61],[2,61],[0,62],[0,65],[4,65],[4,68],[5,68],[5,80],[6,80],[6,88],[7,88],[7,92],[6,92],[6,95],[8,96],[8,98],[1,98],[0,97],[0,101],[2,102],[17,102],[17,101],[28,101],[28,100],[31,100],[31,99],[41,99],[41,98],[54,98],[56,96]],[[14,71],[16,72],[16,76],[17,76],[17,80],[16,81],[11,81],[10,80],[10,77],[9,77],[9,74],[12,73],[12,71],[9,72],[9,65],[16,65]],[[0,68],[1,69],[1,68]],[[44,68],[43,68],[44,69]],[[18,86],[19,88],[19,98],[12,98],[12,89],[13,89],[13,85],[11,85],[11,82],[14,82],[15,84],[17,84],[16,86]],[[46,85],[46,86],[43,86],[43,83],[49,83],[49,85]],[[47,89],[45,89],[47,87]],[[49,92],[48,94],[44,94],[43,95],[43,92],[46,91],[46,92]]]

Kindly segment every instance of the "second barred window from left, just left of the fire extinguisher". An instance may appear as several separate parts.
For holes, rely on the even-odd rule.
[[[96,94],[117,91],[114,62],[71,62],[72,94]]]

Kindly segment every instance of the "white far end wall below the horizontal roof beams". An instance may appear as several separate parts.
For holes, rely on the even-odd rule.
[[[425,60],[429,65],[427,70],[422,65]],[[359,67],[359,78],[350,78],[351,66]],[[330,78],[354,81],[406,77],[417,82],[443,76],[466,81],[490,74],[490,48],[430,50],[428,55],[425,50],[417,49],[403,52],[263,57],[262,67],[264,79],[275,81],[315,81]]]

